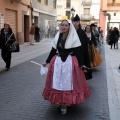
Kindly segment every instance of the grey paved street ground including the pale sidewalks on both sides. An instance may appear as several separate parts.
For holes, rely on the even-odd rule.
[[[28,57],[29,54],[24,53],[26,47],[29,48],[28,52],[33,50],[32,55],[38,53],[39,48],[40,53]],[[119,50],[110,50],[106,44],[105,47],[102,46],[103,63],[93,69],[93,79],[88,81],[92,96],[81,105],[69,107],[68,113],[61,115],[60,109],[54,110],[43,99],[45,76],[39,74],[38,65],[30,62],[44,62],[50,50],[50,40],[43,40],[34,46],[24,45],[22,48],[21,51],[24,52],[19,53],[18,59],[14,53],[13,61],[17,62],[12,62],[11,70],[0,70],[0,120],[120,120]],[[46,51],[42,53],[43,50]],[[2,60],[0,62],[3,64]]]

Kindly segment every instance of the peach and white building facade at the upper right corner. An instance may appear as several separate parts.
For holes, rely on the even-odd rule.
[[[105,34],[110,27],[120,30],[120,0],[101,0],[100,26]]]

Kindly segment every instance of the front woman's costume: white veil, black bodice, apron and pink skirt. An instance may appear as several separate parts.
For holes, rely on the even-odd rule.
[[[58,32],[47,59],[49,64],[43,97],[56,105],[80,104],[91,95],[80,67],[80,40],[70,23],[68,35]]]

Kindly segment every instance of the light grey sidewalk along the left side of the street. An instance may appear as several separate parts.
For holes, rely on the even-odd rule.
[[[50,44],[51,39],[43,39],[39,43],[34,43],[34,45],[30,45],[29,42],[20,45],[20,52],[12,53],[11,67],[49,52],[51,48]],[[0,56],[0,71],[4,69],[5,63]]]

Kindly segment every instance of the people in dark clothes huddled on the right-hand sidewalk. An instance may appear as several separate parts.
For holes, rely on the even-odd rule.
[[[114,49],[118,49],[118,40],[119,40],[119,30],[118,28],[114,27],[114,28],[110,28],[109,32],[108,32],[108,39],[109,39],[109,44],[111,45],[111,49],[112,46],[114,46]]]

